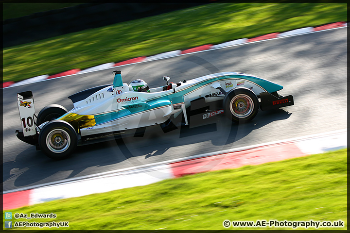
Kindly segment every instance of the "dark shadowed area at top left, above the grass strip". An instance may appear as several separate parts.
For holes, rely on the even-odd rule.
[[[206,3],[5,2],[3,3],[3,46],[26,44],[202,4]]]

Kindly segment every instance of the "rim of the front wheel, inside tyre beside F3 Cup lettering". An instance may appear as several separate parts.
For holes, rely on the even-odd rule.
[[[254,102],[248,95],[240,94],[230,101],[230,111],[238,118],[249,116],[253,112],[253,109]]]

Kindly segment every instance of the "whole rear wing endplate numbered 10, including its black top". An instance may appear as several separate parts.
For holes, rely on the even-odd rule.
[[[32,91],[17,93],[17,105],[21,119],[23,136],[35,135],[35,108]]]

